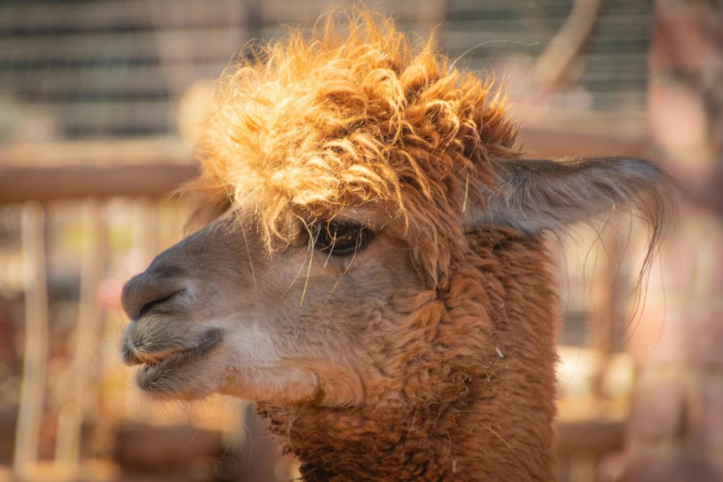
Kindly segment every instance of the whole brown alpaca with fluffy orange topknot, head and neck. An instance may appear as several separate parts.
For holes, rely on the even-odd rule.
[[[552,480],[544,237],[629,207],[654,246],[667,181],[523,160],[504,101],[365,13],[226,72],[189,186],[213,220],[124,287],[140,388],[256,403],[305,481]]]

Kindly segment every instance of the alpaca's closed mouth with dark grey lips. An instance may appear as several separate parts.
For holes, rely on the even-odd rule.
[[[198,343],[190,348],[176,348],[161,353],[136,351],[126,360],[129,364],[143,365],[136,374],[136,382],[142,390],[168,391],[171,389],[171,374],[207,356],[221,344],[221,339],[221,330],[212,329],[204,332]]]

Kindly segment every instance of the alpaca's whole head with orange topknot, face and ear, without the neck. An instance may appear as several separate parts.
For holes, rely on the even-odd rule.
[[[495,350],[499,293],[479,279],[495,246],[615,207],[662,216],[650,163],[521,160],[514,138],[491,81],[432,43],[415,53],[388,20],[330,20],[256,53],[222,77],[200,145],[191,190],[214,220],[124,288],[140,387],[280,405],[457,396]]]

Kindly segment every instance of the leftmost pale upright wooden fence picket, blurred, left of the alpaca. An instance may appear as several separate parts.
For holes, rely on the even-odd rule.
[[[48,293],[46,289],[43,207],[22,210],[22,257],[25,265],[25,350],[13,470],[22,475],[38,462],[40,421],[48,364]]]

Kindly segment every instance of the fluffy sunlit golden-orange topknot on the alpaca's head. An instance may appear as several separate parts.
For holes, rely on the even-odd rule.
[[[328,14],[308,38],[292,30],[251,57],[219,80],[200,142],[192,189],[206,207],[256,212],[272,246],[292,213],[392,203],[419,267],[442,275],[442,241],[461,235],[473,186],[492,185],[494,158],[515,154],[492,79],[454,69],[432,38],[414,50],[368,12]]]

